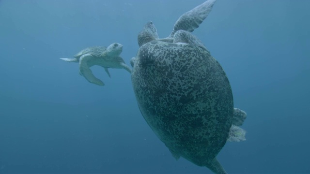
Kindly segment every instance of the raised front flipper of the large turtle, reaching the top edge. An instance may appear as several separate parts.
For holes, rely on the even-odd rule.
[[[192,10],[181,15],[174,24],[173,30],[169,37],[180,29],[192,32],[197,29],[202,21],[209,15],[216,0],[207,0]]]

